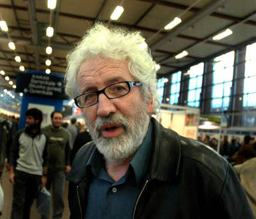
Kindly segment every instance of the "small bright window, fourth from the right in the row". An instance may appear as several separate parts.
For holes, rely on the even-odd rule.
[[[172,74],[171,82],[171,95],[170,95],[170,104],[178,104],[180,96],[180,79],[182,77],[182,72],[176,72]]]

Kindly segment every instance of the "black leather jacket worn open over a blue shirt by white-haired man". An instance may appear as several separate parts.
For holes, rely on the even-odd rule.
[[[243,188],[225,159],[155,119],[152,124],[150,171],[134,204],[133,218],[253,219]],[[84,219],[90,184],[86,163],[94,151],[94,143],[82,147],[67,177],[70,218]]]

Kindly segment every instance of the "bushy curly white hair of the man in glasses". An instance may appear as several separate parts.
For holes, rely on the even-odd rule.
[[[80,94],[77,74],[84,61],[96,57],[128,60],[130,73],[138,82],[142,83],[144,99],[148,102],[150,98],[153,98],[153,113],[156,113],[160,106],[156,90],[156,62],[154,62],[148,46],[145,45],[145,38],[140,32],[110,28],[96,23],[66,56],[66,94],[71,98]]]

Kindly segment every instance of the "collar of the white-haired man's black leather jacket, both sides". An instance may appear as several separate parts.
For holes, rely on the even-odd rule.
[[[152,158],[150,162],[150,179],[158,181],[171,181],[179,173],[181,148],[179,135],[171,129],[165,129],[162,125],[152,118]],[[88,176],[91,168],[91,159],[97,153],[94,143],[82,147],[76,155],[71,171],[66,176],[68,181],[80,182]]]

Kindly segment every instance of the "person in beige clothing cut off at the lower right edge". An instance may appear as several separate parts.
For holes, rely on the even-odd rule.
[[[256,143],[254,143],[254,147],[256,147]],[[247,200],[253,210],[254,218],[256,218],[256,151],[255,149],[253,150],[249,150],[247,152],[248,154],[251,153],[250,156],[247,156],[251,158],[247,158],[240,165],[235,165],[234,169],[239,176],[243,188],[245,189]]]

